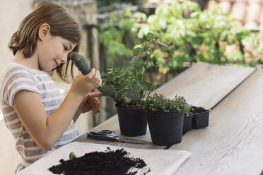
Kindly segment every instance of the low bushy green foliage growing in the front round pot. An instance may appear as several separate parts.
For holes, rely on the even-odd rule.
[[[168,99],[164,95],[157,93],[148,95],[143,103],[143,108],[151,112],[184,112],[187,116],[191,110],[191,105],[187,104],[182,96],[176,95],[174,99]]]

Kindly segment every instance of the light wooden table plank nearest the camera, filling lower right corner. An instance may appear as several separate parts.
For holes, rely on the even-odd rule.
[[[170,149],[192,152],[175,174],[260,174],[263,70],[253,73],[210,113],[209,127],[186,133]]]

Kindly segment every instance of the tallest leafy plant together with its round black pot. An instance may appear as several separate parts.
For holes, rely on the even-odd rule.
[[[148,33],[142,43],[134,40],[136,47],[131,61],[126,66],[109,68],[102,76],[103,84],[115,92],[113,100],[116,102],[122,135],[138,136],[146,133],[147,121],[142,102],[152,90],[152,85],[145,80],[145,73],[149,67],[154,66],[156,60],[151,48],[154,42],[156,40],[151,33]],[[165,46],[163,43],[159,44]]]

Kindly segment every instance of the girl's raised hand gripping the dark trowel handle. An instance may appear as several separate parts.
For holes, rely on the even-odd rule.
[[[90,73],[87,75],[83,76],[81,74],[74,79],[71,85],[71,92],[76,93],[76,95],[84,96],[91,90],[99,87],[101,83],[100,72],[95,70],[95,68],[91,68]]]

